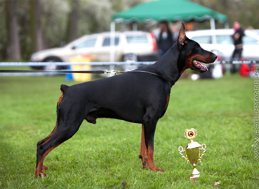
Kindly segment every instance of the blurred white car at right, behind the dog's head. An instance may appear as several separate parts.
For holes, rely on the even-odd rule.
[[[216,30],[196,30],[186,31],[186,36],[196,41],[200,46],[208,51],[217,53],[222,58],[231,58],[235,49],[234,41],[231,35],[233,29],[216,29]],[[259,35],[254,30],[245,30],[245,36],[242,37],[243,51],[242,57],[249,60],[259,59]],[[216,44],[212,43],[215,36]]]

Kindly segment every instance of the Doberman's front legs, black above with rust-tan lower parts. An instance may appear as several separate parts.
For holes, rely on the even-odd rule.
[[[157,121],[151,121],[150,116],[144,116],[143,119],[139,158],[142,159],[143,168],[148,167],[152,171],[163,172],[154,162],[154,135]]]

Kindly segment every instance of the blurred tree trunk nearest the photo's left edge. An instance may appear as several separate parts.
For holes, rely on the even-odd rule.
[[[16,0],[6,1],[8,45],[6,55],[8,59],[21,59],[18,23],[16,15]]]

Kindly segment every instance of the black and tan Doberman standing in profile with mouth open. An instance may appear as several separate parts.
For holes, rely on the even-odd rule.
[[[36,177],[45,177],[43,161],[46,155],[70,139],[83,120],[96,123],[99,117],[142,124],[139,158],[144,168],[161,171],[155,166],[154,134],[157,121],[166,112],[171,87],[185,69],[206,72],[217,55],[206,51],[179,32],[177,42],[155,64],[117,76],[72,86],[61,85],[62,96],[57,103],[56,127],[49,136],[37,143]],[[149,73],[148,73],[149,72]]]

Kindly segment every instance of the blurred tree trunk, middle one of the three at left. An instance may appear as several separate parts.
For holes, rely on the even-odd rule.
[[[41,0],[31,0],[31,52],[45,49],[43,40],[43,28],[41,23]]]

